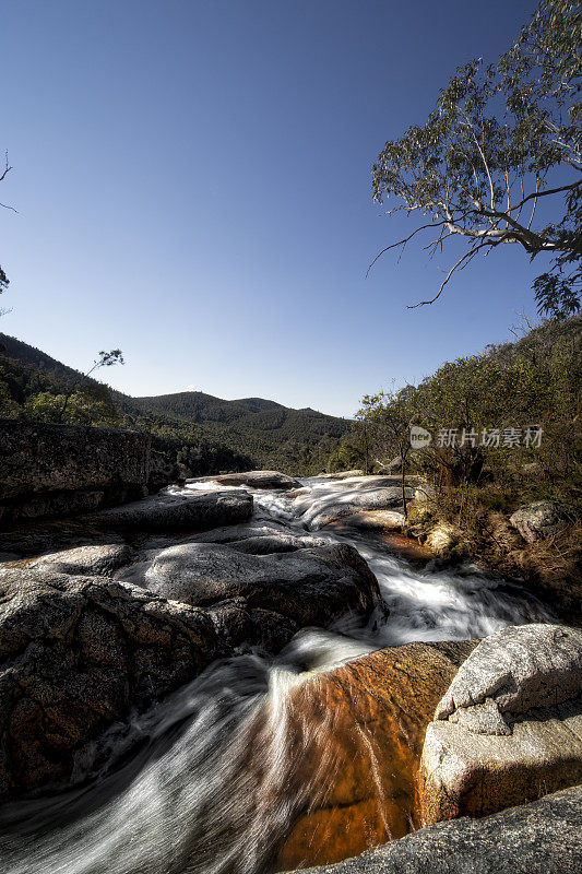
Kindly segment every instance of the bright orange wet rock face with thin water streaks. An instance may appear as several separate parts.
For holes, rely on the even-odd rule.
[[[277,870],[336,862],[417,827],[415,778],[426,727],[475,646],[380,650],[290,693],[294,779],[310,791]]]

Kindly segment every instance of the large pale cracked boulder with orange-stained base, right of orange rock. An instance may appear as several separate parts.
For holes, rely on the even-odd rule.
[[[582,781],[582,631],[503,628],[463,664],[427,729],[421,818],[483,816]]]

